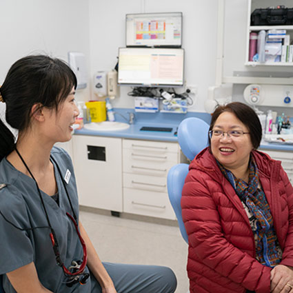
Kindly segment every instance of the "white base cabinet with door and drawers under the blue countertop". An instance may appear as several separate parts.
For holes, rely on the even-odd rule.
[[[185,162],[178,143],[75,135],[73,154],[81,205],[176,219],[167,174]]]

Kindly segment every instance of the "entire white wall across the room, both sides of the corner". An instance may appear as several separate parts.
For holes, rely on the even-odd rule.
[[[291,67],[244,65],[247,1],[225,0],[224,75],[234,71],[292,72]],[[87,57],[89,87],[77,92],[77,99],[91,99],[94,72],[114,68],[118,48],[125,46],[125,14],[179,11],[183,12],[185,80],[198,86],[190,110],[204,112],[208,87],[215,83],[217,4],[217,0],[1,0],[0,84],[10,65],[27,54],[46,53],[67,60],[68,51],[79,51]],[[127,95],[130,90],[121,87],[114,107],[134,106]]]

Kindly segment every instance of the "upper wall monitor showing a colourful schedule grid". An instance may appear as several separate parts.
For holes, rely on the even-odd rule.
[[[126,14],[126,47],[182,45],[182,12]]]

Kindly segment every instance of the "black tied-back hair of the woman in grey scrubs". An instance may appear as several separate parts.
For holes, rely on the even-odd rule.
[[[58,110],[77,77],[62,60],[46,55],[31,55],[16,61],[0,88],[6,103],[6,121],[12,128],[26,130],[30,125],[32,106]],[[36,111],[37,111],[36,110]],[[14,135],[0,119],[0,161],[14,150]]]

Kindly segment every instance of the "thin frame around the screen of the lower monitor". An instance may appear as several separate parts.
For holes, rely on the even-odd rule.
[[[141,47],[139,47],[141,48]],[[119,52],[121,49],[139,49],[139,48],[133,48],[133,47],[119,47],[118,49],[118,58],[120,56]],[[134,86],[134,87],[143,87],[143,88],[182,88],[185,83],[185,50],[183,48],[149,48],[149,47],[143,47],[141,49],[147,49],[147,50],[182,50],[183,51],[183,79],[182,84],[170,84],[170,83],[119,83],[119,59],[118,59],[118,74],[117,74],[117,85],[128,85],[128,86]]]

